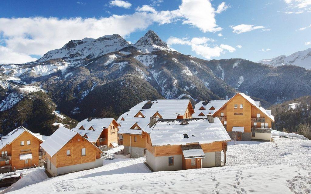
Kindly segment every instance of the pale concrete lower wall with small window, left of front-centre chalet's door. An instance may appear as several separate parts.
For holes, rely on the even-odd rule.
[[[174,155],[174,165],[169,166],[170,156],[158,156],[155,157],[149,151],[146,151],[146,163],[153,171],[165,171],[165,170],[182,170],[182,155]]]

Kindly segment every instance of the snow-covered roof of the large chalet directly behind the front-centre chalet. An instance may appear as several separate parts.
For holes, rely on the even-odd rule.
[[[151,107],[144,107],[149,100],[144,100],[132,107],[128,112],[121,115],[117,122],[121,125],[118,133],[125,134],[141,134],[140,129],[131,129],[136,123],[141,129],[145,128],[156,112],[158,112],[163,119],[176,119],[178,115],[184,115],[190,100],[155,100],[150,101]],[[141,112],[144,117],[134,117],[138,112]],[[121,120],[121,119],[124,119]]]

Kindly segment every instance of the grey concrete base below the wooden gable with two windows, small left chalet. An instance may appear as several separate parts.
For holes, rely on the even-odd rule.
[[[103,166],[102,158],[96,159],[94,162],[87,162],[83,164],[59,167],[57,168],[57,175],[80,171],[80,170],[92,169],[92,168],[96,168],[100,166]]]

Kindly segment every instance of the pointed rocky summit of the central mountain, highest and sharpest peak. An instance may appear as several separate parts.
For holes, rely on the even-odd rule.
[[[167,44],[152,30],[148,30],[142,38],[139,38],[134,47],[142,52],[170,50]]]

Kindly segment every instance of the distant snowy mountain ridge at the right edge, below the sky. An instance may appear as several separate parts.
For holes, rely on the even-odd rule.
[[[298,51],[290,56],[281,55],[272,59],[263,59],[257,61],[258,63],[280,66],[280,65],[296,65],[304,67],[306,69],[311,69],[311,48],[304,51]]]

